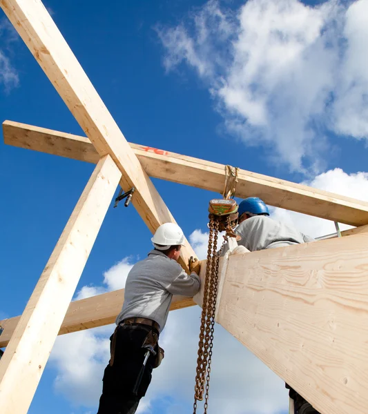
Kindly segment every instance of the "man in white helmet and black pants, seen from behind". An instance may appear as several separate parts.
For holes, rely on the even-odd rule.
[[[97,414],[133,414],[146,394],[153,368],[164,357],[158,345],[173,295],[193,297],[200,290],[200,262],[188,275],[177,263],[184,234],[177,224],[157,228],[154,249],[126,279],[124,305],[110,337],[110,362],[103,377]],[[147,359],[148,358],[148,359]]]

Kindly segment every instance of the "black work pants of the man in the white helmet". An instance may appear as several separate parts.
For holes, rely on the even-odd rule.
[[[137,410],[139,400],[146,395],[152,377],[154,357],[150,356],[138,394],[133,394],[146,353],[142,344],[151,329],[151,326],[139,324],[117,327],[114,362],[113,366],[108,364],[104,371],[97,414],[134,414]],[[112,340],[113,335],[110,337],[110,348]]]

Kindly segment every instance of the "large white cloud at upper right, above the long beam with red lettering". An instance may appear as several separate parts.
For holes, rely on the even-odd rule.
[[[157,32],[166,69],[194,68],[227,130],[291,169],[322,168],[327,130],[368,138],[368,0],[210,0]]]

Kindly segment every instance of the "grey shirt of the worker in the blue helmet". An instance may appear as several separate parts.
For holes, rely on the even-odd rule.
[[[246,247],[251,252],[264,248],[276,248],[291,246],[292,244],[313,242],[315,239],[300,233],[296,228],[271,219],[271,217],[259,215],[249,217],[242,221],[235,233],[242,237],[238,245]],[[229,247],[224,246],[222,254]]]

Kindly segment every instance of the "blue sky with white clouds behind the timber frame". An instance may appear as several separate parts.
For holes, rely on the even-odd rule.
[[[309,6],[296,0],[124,0],[109,2],[108,7],[93,0],[88,6],[71,0],[44,4],[128,141],[367,199],[368,77],[361,69],[368,64],[362,52],[368,46],[367,0]],[[3,14],[0,114],[1,121],[84,135]],[[0,165],[0,317],[11,317],[23,311],[93,166],[12,148],[2,140]],[[202,251],[206,208],[214,195],[153,181]],[[283,210],[274,214],[298,224],[304,233],[333,231],[333,224],[326,221]],[[151,248],[150,238],[133,207],[111,206],[76,295],[86,295],[84,286],[98,293],[124,284],[129,265]],[[117,282],[119,272],[123,282]],[[191,351],[184,352],[187,359],[183,357],[189,365],[195,361],[197,317],[194,309],[171,315],[164,339],[166,353],[182,353],[171,334],[181,324],[193,330],[188,335]],[[241,378],[251,392],[246,401],[232,395],[231,412],[285,410],[286,391],[278,396],[282,382],[218,329],[218,355],[226,353],[226,344],[237,351],[230,362],[219,356],[217,366],[233,365],[236,373],[236,358],[241,357],[251,367]],[[31,414],[95,413],[88,390],[99,393],[111,330],[64,335],[43,374]],[[88,348],[87,357],[82,351],[70,356],[78,341],[81,348]],[[68,395],[68,381],[77,381],[68,367],[80,361],[95,379],[82,384],[86,375],[79,381],[81,391],[75,385],[75,395]],[[180,413],[178,406],[190,407],[192,368],[189,384],[183,386],[188,392],[179,393],[182,384],[176,382],[169,392],[162,385],[165,375],[175,379],[174,368],[168,362],[160,367],[157,386],[142,412]],[[211,388],[222,400],[225,371],[219,369]],[[214,368],[213,376],[215,372]],[[232,374],[230,370],[229,377]],[[253,390],[255,385],[258,391]]]

